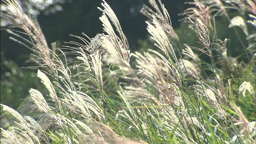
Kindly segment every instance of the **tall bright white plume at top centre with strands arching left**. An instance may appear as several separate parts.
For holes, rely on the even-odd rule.
[[[106,4],[106,2],[104,2],[104,3],[102,3],[102,6],[104,7],[103,10],[101,8],[99,8],[103,12],[103,15],[100,18],[100,20],[103,23],[104,31],[107,32],[108,35],[97,34],[94,38],[92,38],[92,39],[89,38],[88,41],[86,41],[85,39],[83,39],[81,37],[76,36],[79,39],[81,39],[85,44],[83,45],[83,44],[79,44],[76,42],[69,42],[70,44],[75,44],[76,46],[78,46],[78,48],[68,47],[68,46],[66,48],[71,48],[72,50],[74,50],[74,52],[77,52],[80,55],[80,57],[78,57],[78,58],[80,58],[80,59],[82,58],[82,60],[86,64],[89,63],[89,60],[93,60],[94,59],[93,55],[98,52],[100,52],[100,56],[102,58],[105,58],[106,54],[110,54],[110,56],[112,56],[114,58],[115,57],[123,58],[124,60],[129,62],[130,50],[128,48],[127,40],[126,40],[124,34],[122,33],[122,29],[120,28],[120,24],[114,14],[114,12],[108,6],[108,4]],[[111,23],[117,29],[120,38],[115,34]],[[86,49],[86,51],[81,50],[81,48],[79,48],[79,47]],[[78,50],[78,49],[80,49],[80,50]],[[91,63],[90,66],[92,68],[92,71],[94,72],[94,76],[98,76],[98,74],[95,74],[96,71],[93,69],[92,65],[93,64]],[[96,79],[98,79],[98,78],[96,78]],[[98,81],[99,81],[99,79],[97,80],[97,82]],[[102,84],[101,84],[101,87],[103,88]]]

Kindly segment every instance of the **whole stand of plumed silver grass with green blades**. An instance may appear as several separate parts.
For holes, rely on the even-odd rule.
[[[41,82],[16,110],[1,104],[1,142],[255,143],[255,0],[195,0],[182,13],[191,38],[176,34],[164,4],[150,0],[141,10],[150,42],[134,53],[104,0],[104,34],[71,35],[77,40],[60,48],[49,48],[15,0],[3,2],[7,32],[32,51],[29,68]],[[222,29],[236,41],[220,39]],[[243,51],[236,58],[228,51],[233,42]]]

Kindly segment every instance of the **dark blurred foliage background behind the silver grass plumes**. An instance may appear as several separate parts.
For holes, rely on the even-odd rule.
[[[147,4],[148,0],[106,1],[120,21],[124,34],[128,38],[131,52],[144,52],[148,48],[156,49],[146,31],[145,21],[147,18],[140,14],[142,5]],[[162,0],[170,14],[172,26],[178,34],[180,49],[184,43],[189,46],[198,46],[196,34],[188,28],[188,24],[179,21],[182,16],[178,14],[191,6],[184,4],[189,1],[192,0]],[[94,37],[97,33],[102,33],[102,25],[99,20],[102,12],[97,9],[101,0],[19,0],[18,2],[32,18],[37,18],[49,46],[52,42],[57,42],[57,46],[61,46],[63,42],[72,40],[69,34],[80,36],[84,32],[89,37]],[[1,9],[3,8],[4,4],[1,1]],[[236,13],[230,15],[231,18],[234,16]],[[244,54],[244,50],[234,35],[234,30],[228,28],[228,25],[227,19],[216,18],[217,38],[231,39],[227,42],[228,56],[237,57],[238,63],[248,62],[246,55],[241,55]],[[4,30],[6,27],[8,27],[6,23],[1,21],[1,103],[16,109],[21,104],[21,100],[28,96],[29,88],[38,88],[38,80],[33,77],[35,75],[33,70],[22,68],[29,66],[25,62],[29,59],[30,50],[10,40],[10,35]],[[239,28],[236,29],[246,44],[247,40],[243,31]],[[254,29],[252,27],[249,30]],[[223,64],[228,63],[224,62]],[[229,65],[234,64],[231,62]],[[240,69],[244,72],[242,66]],[[234,71],[235,73],[236,71]],[[226,74],[231,75],[229,71],[226,71]],[[226,77],[228,78],[228,76]]]

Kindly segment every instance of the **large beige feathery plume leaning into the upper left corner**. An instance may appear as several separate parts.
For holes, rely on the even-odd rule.
[[[29,16],[24,14],[16,0],[3,0],[3,2],[7,4],[7,7],[5,13],[2,14],[1,12],[1,18],[7,19],[13,27],[18,27],[24,30],[24,32],[8,30],[10,34],[21,40],[16,38],[11,39],[30,48],[36,57],[39,58],[39,60],[42,60],[40,62],[38,61],[40,66],[46,66],[49,67],[49,69],[53,69],[50,51],[38,22],[31,20]],[[27,35],[32,40],[28,40],[22,35]]]

